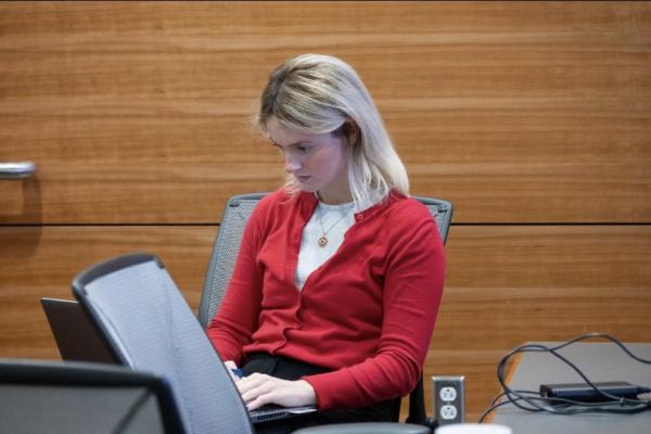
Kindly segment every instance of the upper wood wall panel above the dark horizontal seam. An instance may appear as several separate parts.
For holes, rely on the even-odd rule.
[[[306,51],[359,71],[456,222],[649,220],[649,3],[69,2],[0,4],[0,161],[39,184],[1,183],[0,222],[217,222],[279,184],[248,119]]]

